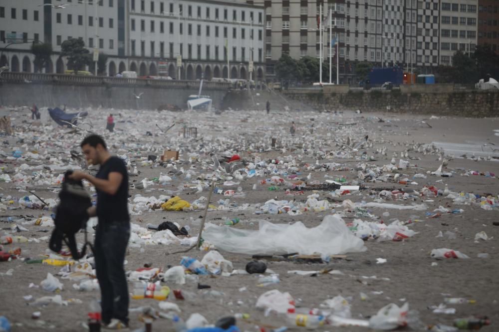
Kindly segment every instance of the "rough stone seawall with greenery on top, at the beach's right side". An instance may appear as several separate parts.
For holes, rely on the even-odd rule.
[[[424,86],[424,89],[420,88],[418,92],[406,92],[404,88],[392,91],[345,91],[343,89],[341,92],[334,92],[327,88],[329,87],[314,91],[288,90],[283,94],[288,100],[308,104],[318,111],[361,110],[362,112],[468,117],[499,116],[499,92],[497,91],[454,91],[448,88],[443,89],[439,85]]]

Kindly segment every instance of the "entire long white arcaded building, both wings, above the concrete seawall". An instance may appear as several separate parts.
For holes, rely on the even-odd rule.
[[[252,78],[262,79],[263,24],[263,7],[244,1],[3,0],[0,63],[31,72],[31,43],[48,42],[54,54],[44,71],[63,73],[62,42],[81,38],[91,52],[109,56],[111,76],[132,70],[174,78],[180,72],[182,79],[249,78],[252,65]]]

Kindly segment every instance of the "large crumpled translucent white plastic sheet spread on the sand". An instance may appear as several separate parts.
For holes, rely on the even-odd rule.
[[[207,223],[203,238],[218,249],[243,254],[337,255],[365,251],[364,241],[353,235],[338,215],[326,216],[320,225],[302,222],[276,224],[260,221],[259,230],[237,229]]]

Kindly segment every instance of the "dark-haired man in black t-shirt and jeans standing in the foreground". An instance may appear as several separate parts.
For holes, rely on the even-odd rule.
[[[89,217],[99,219],[94,254],[101,293],[102,323],[108,330],[128,328],[128,285],[123,263],[130,238],[128,214],[128,173],[123,160],[112,156],[99,135],[89,135],[80,144],[87,162],[100,165],[97,175],[74,171],[75,180],[85,179],[95,186],[97,206]]]

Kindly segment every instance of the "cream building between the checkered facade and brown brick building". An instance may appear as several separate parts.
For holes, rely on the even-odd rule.
[[[477,0],[443,0],[440,10],[440,62],[452,65],[457,50],[468,54],[477,45]]]

